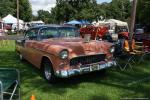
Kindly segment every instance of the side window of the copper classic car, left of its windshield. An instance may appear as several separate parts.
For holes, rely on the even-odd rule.
[[[30,29],[26,32],[25,38],[29,40],[36,40],[38,34],[38,29]]]

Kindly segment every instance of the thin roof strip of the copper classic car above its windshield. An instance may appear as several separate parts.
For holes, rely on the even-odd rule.
[[[44,27],[54,27],[54,28],[59,28],[59,27],[70,27],[70,28],[75,28],[74,26],[64,26],[64,25],[57,25],[57,24],[48,24],[48,25],[37,25],[33,26],[30,29],[33,28],[44,28]]]

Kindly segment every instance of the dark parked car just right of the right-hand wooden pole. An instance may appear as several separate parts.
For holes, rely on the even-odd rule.
[[[135,33],[133,34],[133,37],[135,39],[135,41],[142,41],[142,34],[144,34],[144,29],[136,29]]]

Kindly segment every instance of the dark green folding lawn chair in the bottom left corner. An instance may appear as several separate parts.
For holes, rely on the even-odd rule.
[[[0,100],[20,100],[20,74],[16,69],[0,69]]]

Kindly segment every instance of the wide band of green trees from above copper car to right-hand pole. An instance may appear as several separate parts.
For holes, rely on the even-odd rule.
[[[96,0],[56,1],[56,6],[52,8],[51,15],[49,15],[51,23],[63,23],[73,19],[93,21],[116,18],[126,20],[130,16],[130,0],[112,0],[111,3],[102,4],[97,4]]]

